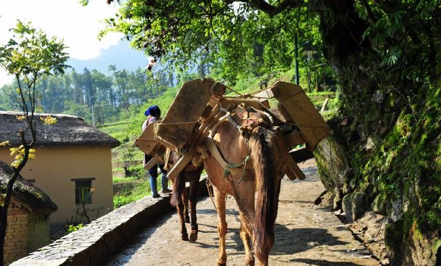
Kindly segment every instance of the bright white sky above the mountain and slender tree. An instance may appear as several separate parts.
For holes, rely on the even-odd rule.
[[[66,52],[74,59],[99,57],[99,50],[118,43],[121,34],[107,34],[98,40],[98,33],[105,27],[106,17],[112,17],[118,5],[107,5],[105,0],[90,0],[81,6],[80,0],[0,0],[0,45],[11,37],[17,19],[32,22],[32,27],[41,29],[49,37],[63,39]],[[0,68],[0,87],[12,80]]]

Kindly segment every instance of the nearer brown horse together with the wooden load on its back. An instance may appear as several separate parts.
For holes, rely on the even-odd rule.
[[[329,130],[298,85],[278,82],[240,96],[224,96],[225,90],[212,79],[184,83],[163,121],[149,125],[136,145],[149,154],[162,147],[179,154],[167,175],[171,179],[203,161],[218,212],[217,265],[227,260],[227,194],[239,207],[246,265],[254,265],[253,252],[258,265],[267,265],[281,178],[305,178],[289,148],[305,143],[312,150]],[[268,100],[276,105],[271,108]]]

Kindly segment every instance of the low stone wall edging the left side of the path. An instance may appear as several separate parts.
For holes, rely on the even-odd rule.
[[[206,196],[205,179],[201,181],[200,187],[201,195]],[[159,216],[171,212],[174,212],[174,208],[170,205],[170,196],[147,196],[115,209],[10,266],[102,265],[131,236],[156,221]]]

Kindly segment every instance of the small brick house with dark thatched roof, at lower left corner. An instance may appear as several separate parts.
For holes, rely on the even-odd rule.
[[[6,185],[12,168],[0,161],[0,192],[6,193]],[[1,201],[1,196],[0,196]],[[50,237],[48,216],[57,209],[49,196],[21,176],[14,183],[8,209],[8,227],[4,245],[4,263],[28,256],[39,247],[48,244]]]

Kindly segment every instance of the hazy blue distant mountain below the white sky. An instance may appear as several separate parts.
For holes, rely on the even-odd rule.
[[[130,48],[127,41],[119,41],[116,45],[111,45],[107,49],[101,49],[99,57],[88,60],[69,59],[66,63],[72,66],[76,72],[83,72],[84,68],[98,70],[107,73],[109,65],[116,65],[118,70],[134,71],[138,68],[145,68],[149,59],[143,52]],[[68,71],[72,70],[70,68]]]

